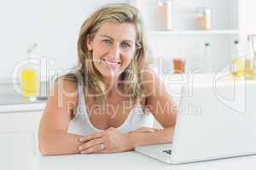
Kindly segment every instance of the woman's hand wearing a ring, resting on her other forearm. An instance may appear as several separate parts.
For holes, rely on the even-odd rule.
[[[81,154],[114,153],[133,149],[129,133],[120,133],[114,127],[79,138],[79,142],[83,143],[79,146]]]

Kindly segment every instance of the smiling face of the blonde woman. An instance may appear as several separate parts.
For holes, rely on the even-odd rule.
[[[136,53],[136,28],[131,23],[105,22],[93,39],[87,38],[93,63],[104,78],[118,77]]]

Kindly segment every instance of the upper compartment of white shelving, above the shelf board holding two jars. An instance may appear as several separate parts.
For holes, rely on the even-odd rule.
[[[240,0],[167,0],[172,1],[171,10],[172,31],[199,31],[197,24],[200,8],[210,8],[211,10],[211,31],[232,34],[239,29],[239,1]],[[164,13],[161,13],[161,0],[131,0],[131,4],[137,6],[143,15],[145,26],[148,31],[166,31],[160,22],[163,21]],[[164,2],[164,0],[162,1]],[[205,31],[207,34],[207,31]]]

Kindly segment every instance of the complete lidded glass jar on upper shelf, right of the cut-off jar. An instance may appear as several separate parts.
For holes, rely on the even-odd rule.
[[[199,30],[210,30],[212,22],[211,8],[201,7],[197,12],[197,25]]]

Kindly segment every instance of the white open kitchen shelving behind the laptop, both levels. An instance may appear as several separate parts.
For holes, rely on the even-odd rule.
[[[172,59],[183,58],[186,71],[201,69],[204,58],[211,58],[212,70],[227,71],[232,56],[236,55],[234,42],[241,42],[241,54],[247,54],[247,34],[256,32],[255,1],[251,0],[172,0],[172,31],[159,26],[157,0],[131,0],[143,15],[149,47],[155,59],[160,59],[160,71],[172,71]],[[200,7],[211,8],[212,28],[199,31],[197,12]],[[205,54],[205,42],[210,42]]]

